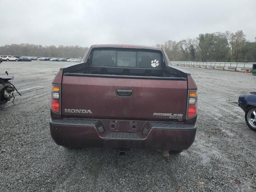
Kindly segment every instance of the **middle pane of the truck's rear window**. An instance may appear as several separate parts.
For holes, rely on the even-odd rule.
[[[135,51],[118,51],[117,52],[118,67],[136,67]]]

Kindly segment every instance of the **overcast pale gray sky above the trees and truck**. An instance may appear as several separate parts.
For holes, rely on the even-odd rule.
[[[200,33],[256,36],[256,0],[0,0],[0,45],[163,44]]]

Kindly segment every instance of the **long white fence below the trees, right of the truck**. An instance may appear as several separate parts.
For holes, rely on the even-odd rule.
[[[230,63],[230,62],[192,62],[192,61],[170,61],[172,65],[192,65],[192,66],[220,66],[235,68],[252,68],[252,64],[256,63]]]

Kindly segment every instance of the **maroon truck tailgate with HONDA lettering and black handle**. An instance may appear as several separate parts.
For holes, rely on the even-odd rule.
[[[65,75],[62,79],[62,115],[185,119],[186,104],[186,80]]]

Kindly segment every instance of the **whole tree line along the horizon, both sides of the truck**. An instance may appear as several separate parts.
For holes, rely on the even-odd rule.
[[[242,30],[199,34],[194,39],[168,40],[156,46],[163,48],[171,61],[256,62],[256,38],[249,42]],[[0,46],[0,55],[80,58],[87,50],[78,45],[11,44]]]

